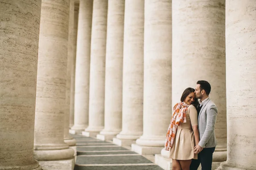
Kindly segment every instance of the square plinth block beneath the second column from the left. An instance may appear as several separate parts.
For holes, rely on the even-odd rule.
[[[43,170],[73,170],[75,167],[75,158],[58,161],[39,161]]]

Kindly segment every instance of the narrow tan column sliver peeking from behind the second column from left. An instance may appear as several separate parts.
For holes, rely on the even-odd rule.
[[[71,86],[71,70],[73,65],[73,48],[74,48],[74,0],[70,0],[70,11],[69,11],[69,28],[68,28],[68,51],[67,51],[67,81],[66,81],[66,105],[65,105],[65,116],[64,116],[64,142],[67,143],[76,155],[76,139],[73,139],[69,134],[70,125],[70,86]]]

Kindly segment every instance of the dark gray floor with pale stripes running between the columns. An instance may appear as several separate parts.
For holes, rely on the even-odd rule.
[[[163,170],[152,162],[154,156],[141,156],[111,141],[72,136],[77,142],[75,170]]]

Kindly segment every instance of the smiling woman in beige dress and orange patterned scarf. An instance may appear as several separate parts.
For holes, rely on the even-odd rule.
[[[194,153],[199,142],[197,105],[195,89],[186,88],[173,108],[165,144],[172,158],[172,170],[189,170],[192,159],[198,159]]]

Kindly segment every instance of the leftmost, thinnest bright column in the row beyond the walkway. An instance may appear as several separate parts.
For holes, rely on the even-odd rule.
[[[75,119],[71,128],[81,133],[88,126],[90,39],[93,1],[80,0],[76,46]]]

